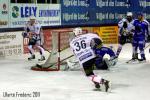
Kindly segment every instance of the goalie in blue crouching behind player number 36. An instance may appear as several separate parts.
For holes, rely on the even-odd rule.
[[[107,70],[111,66],[116,65],[117,63],[117,57],[112,50],[112,48],[109,47],[104,47],[102,45],[102,41],[94,38],[92,39],[92,49],[94,50],[96,54],[96,59],[95,59],[95,66],[96,69],[102,69],[102,70]],[[110,59],[104,58],[105,55],[109,55]]]

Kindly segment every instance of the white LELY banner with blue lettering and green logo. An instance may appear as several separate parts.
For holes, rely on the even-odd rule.
[[[41,26],[61,24],[59,4],[11,4],[10,27],[24,27],[30,16],[35,16]]]

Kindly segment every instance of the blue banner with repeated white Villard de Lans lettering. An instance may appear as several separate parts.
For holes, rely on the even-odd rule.
[[[143,12],[144,16],[150,20],[150,1],[61,0],[61,24],[112,24],[117,23],[129,11],[133,12],[134,15],[137,12]]]

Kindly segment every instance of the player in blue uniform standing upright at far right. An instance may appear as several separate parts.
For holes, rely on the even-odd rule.
[[[133,35],[133,56],[132,60],[146,61],[144,47],[146,42],[146,37],[149,37],[148,25],[149,22],[144,19],[142,13],[137,14],[137,19],[134,20],[133,25],[135,27]],[[138,58],[138,48],[140,50],[140,59]]]

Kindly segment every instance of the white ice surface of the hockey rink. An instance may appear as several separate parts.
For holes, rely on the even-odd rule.
[[[94,91],[82,71],[39,72],[30,70],[37,60],[27,61],[26,56],[0,59],[0,100],[150,100],[148,49],[146,63],[126,64],[132,53],[131,45],[126,44],[116,66],[95,71],[111,81],[107,93]],[[21,97],[23,93],[31,95]]]

